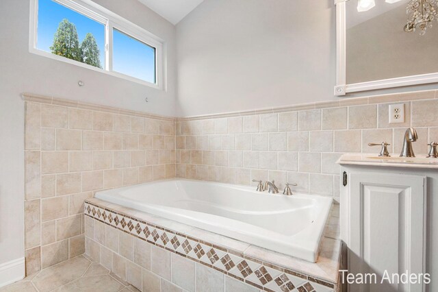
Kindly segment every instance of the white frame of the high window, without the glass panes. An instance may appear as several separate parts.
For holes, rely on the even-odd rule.
[[[85,64],[76,60],[71,60],[63,56],[57,56],[47,51],[37,49],[38,38],[38,1],[30,1],[30,21],[29,21],[29,52],[39,56],[51,58],[53,60],[59,60],[69,64],[75,64],[86,69],[105,73],[115,77],[120,77],[131,82],[136,82],[152,88],[164,90],[165,74],[164,74],[164,41],[146,31],[142,27],[127,21],[118,14],[103,8],[90,0],[51,0],[60,5],[64,5],[66,8],[73,10],[79,14],[82,14],[93,21],[101,23],[105,26],[105,67],[103,69]],[[113,29],[118,29],[120,32],[136,38],[140,42],[144,42],[145,45],[155,48],[155,83],[141,80],[137,77],[113,71]]]

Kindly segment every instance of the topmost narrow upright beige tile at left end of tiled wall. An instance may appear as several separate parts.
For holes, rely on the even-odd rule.
[[[41,105],[26,102],[25,111],[25,150],[39,150]]]

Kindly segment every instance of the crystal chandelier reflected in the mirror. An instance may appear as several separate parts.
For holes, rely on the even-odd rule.
[[[411,0],[406,8],[408,14],[405,32],[415,32],[421,29],[420,35],[426,34],[426,29],[432,27],[432,22],[437,20],[437,0]]]

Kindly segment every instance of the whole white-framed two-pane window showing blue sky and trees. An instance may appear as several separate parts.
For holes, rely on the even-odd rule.
[[[162,40],[90,0],[31,0],[29,50],[162,88]]]

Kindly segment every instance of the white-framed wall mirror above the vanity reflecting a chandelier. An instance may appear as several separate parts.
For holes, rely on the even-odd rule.
[[[335,95],[438,82],[437,1],[337,0],[336,5]]]

